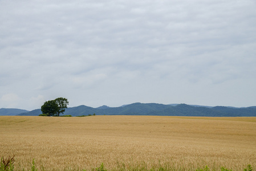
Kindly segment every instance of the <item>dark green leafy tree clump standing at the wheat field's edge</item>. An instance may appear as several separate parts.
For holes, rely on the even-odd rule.
[[[67,108],[68,101],[66,98],[59,97],[55,100],[48,100],[44,102],[41,107],[42,116],[59,116],[64,113]]]

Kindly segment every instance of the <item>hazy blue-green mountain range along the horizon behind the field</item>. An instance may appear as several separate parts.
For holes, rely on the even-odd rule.
[[[10,110],[10,111],[9,111]],[[13,112],[13,113],[12,113]],[[15,113],[16,112],[16,113]],[[19,112],[19,113],[17,113]],[[38,116],[42,112],[40,109],[25,111],[21,109],[0,109],[1,115]],[[64,115],[151,115],[151,116],[255,116],[256,106],[246,108],[235,107],[209,107],[202,105],[187,104],[157,104],[157,103],[133,103],[122,105],[121,107],[108,107],[103,105],[98,108],[79,105],[78,107],[67,108]]]

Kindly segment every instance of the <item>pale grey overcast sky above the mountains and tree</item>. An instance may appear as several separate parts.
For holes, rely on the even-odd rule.
[[[256,105],[255,0],[0,0],[0,108]]]

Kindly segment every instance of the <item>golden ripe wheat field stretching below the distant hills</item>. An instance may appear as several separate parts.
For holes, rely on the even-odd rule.
[[[0,116],[0,135],[17,170],[256,168],[256,117]]]

